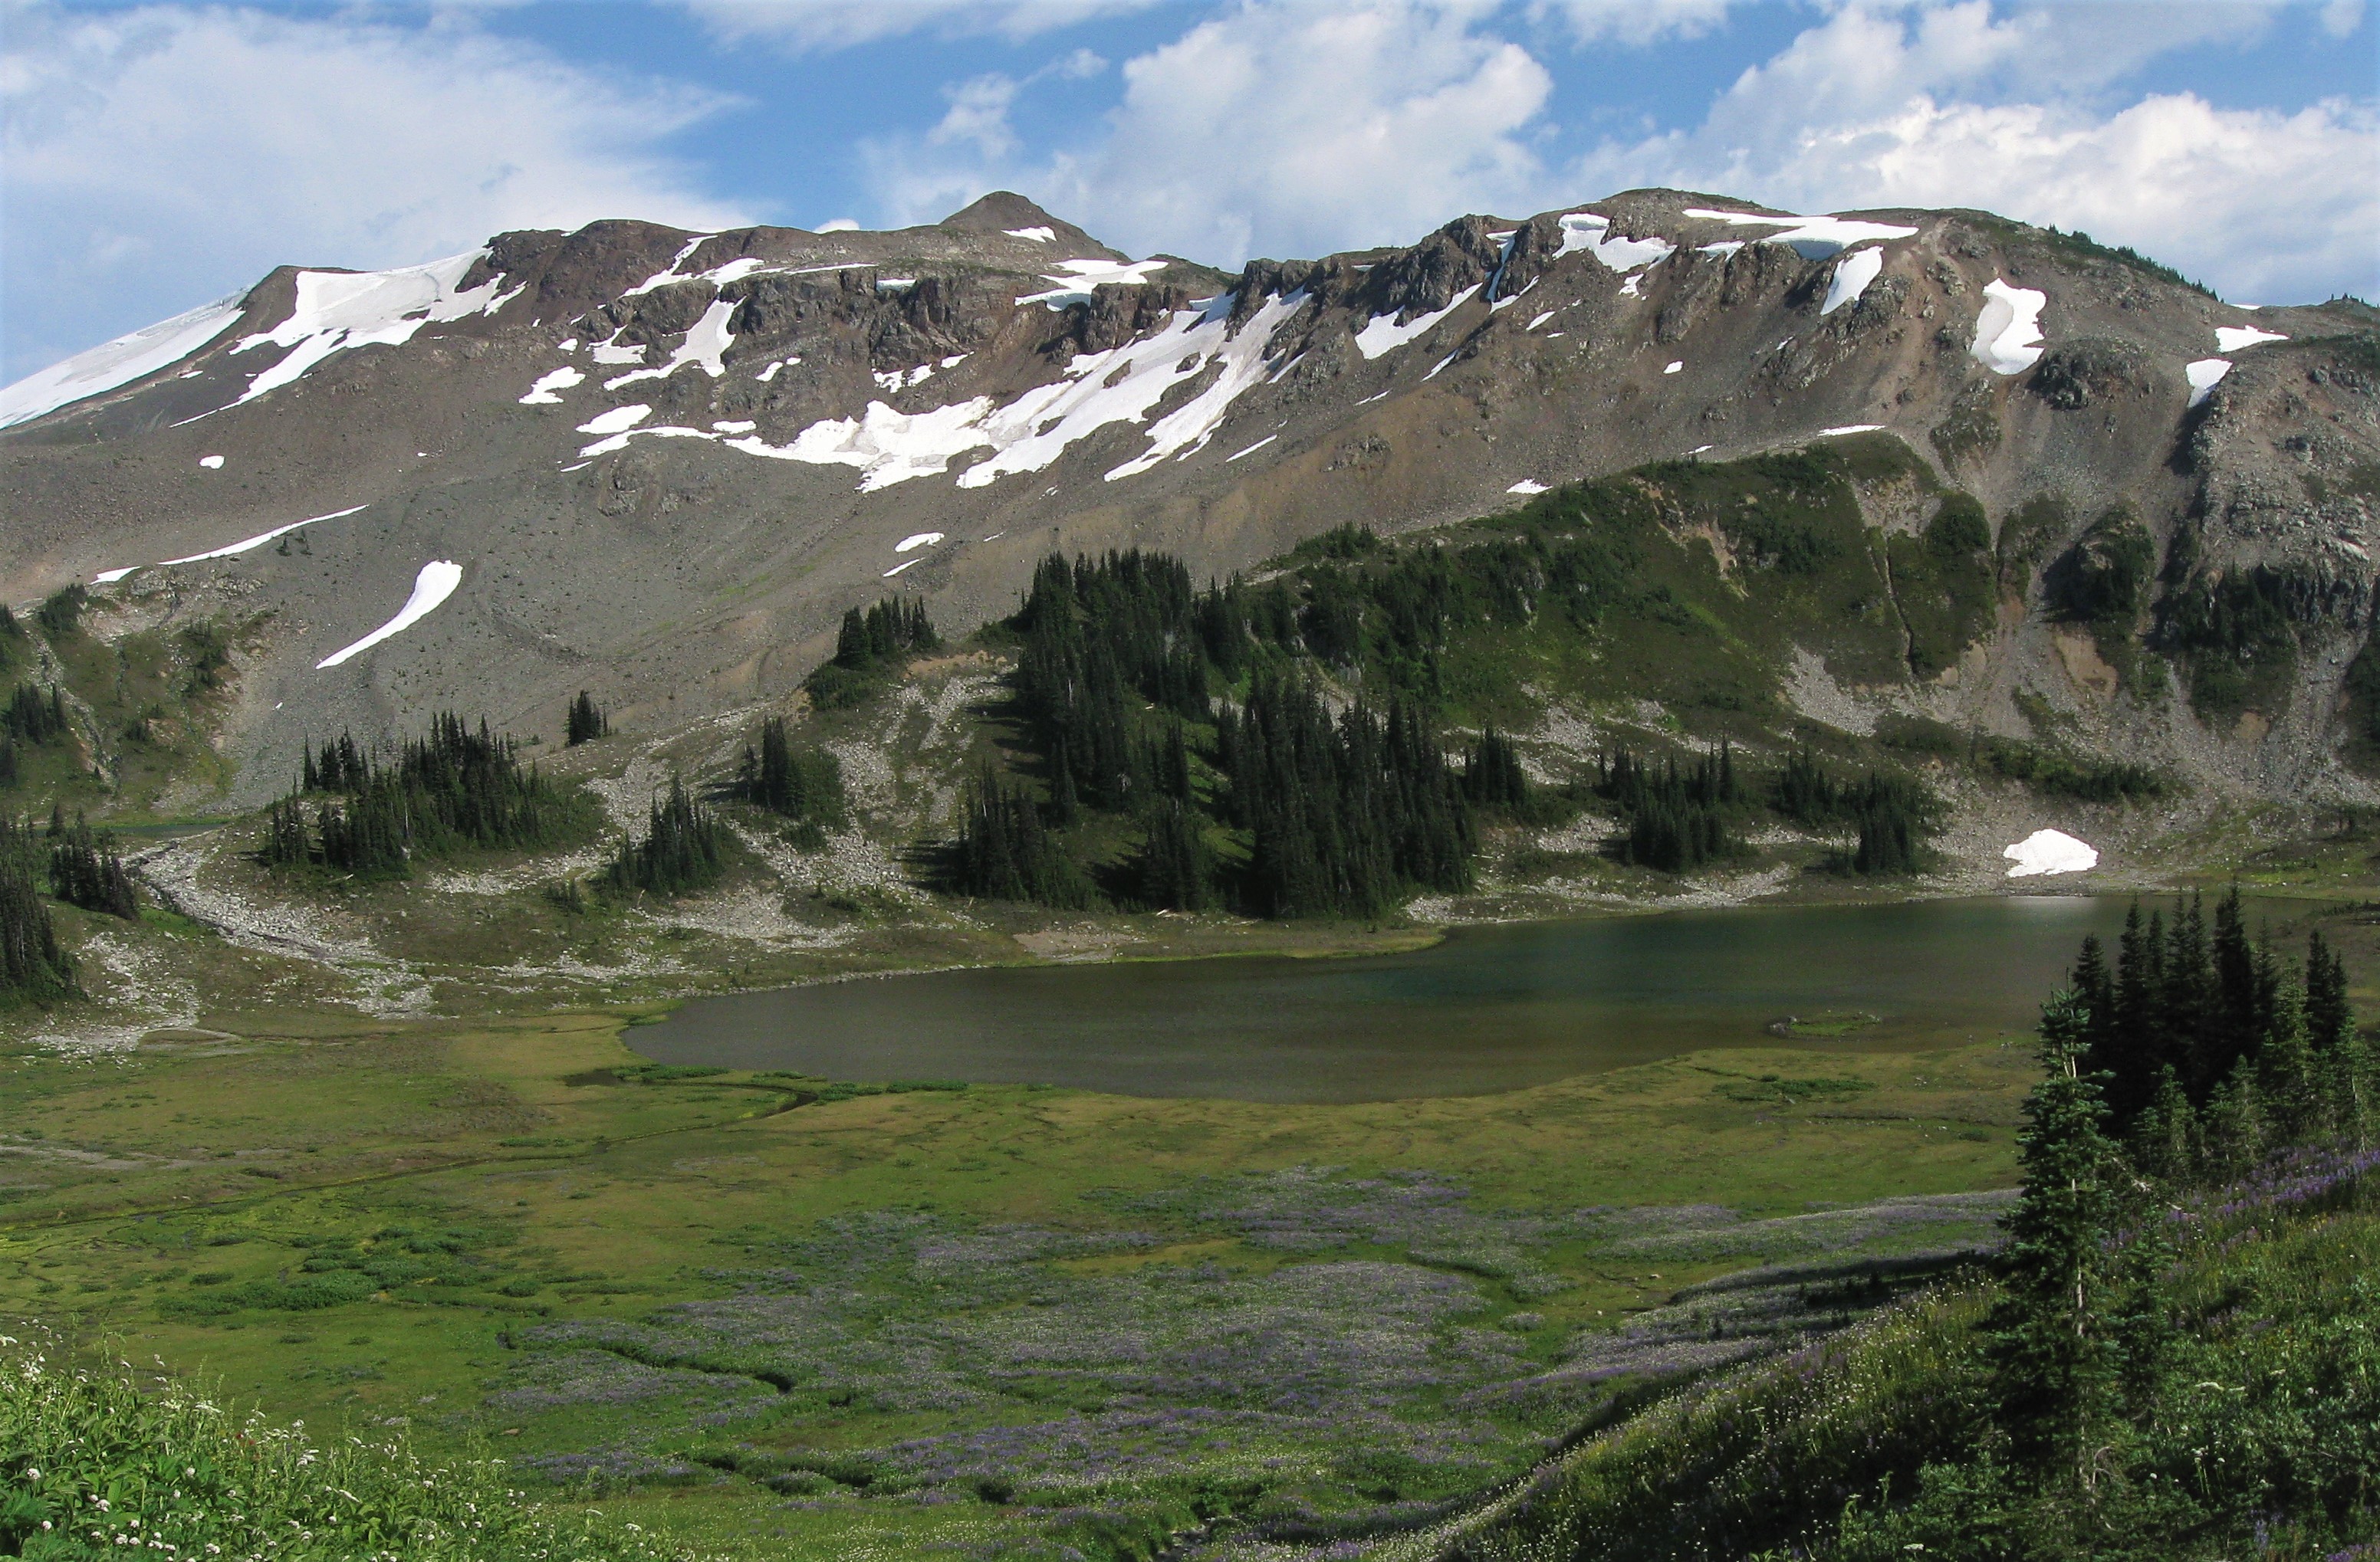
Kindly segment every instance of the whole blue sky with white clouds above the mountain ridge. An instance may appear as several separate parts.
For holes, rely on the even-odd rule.
[[[0,378],[493,231],[933,221],[1233,266],[1642,183],[1968,204],[2380,290],[2380,33],[2306,5],[0,0]]]

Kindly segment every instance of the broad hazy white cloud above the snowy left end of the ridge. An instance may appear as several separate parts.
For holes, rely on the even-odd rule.
[[[650,147],[728,100],[440,17],[12,7],[5,378],[255,283],[597,216],[750,221]]]

